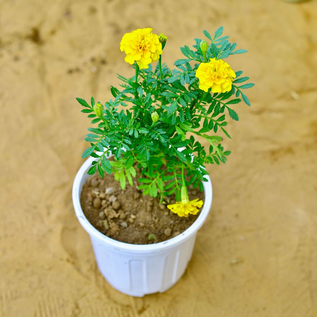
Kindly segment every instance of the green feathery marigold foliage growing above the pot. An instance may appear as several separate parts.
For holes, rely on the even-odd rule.
[[[207,61],[246,52],[236,49],[236,43],[230,43],[229,36],[222,36],[222,33],[223,27],[217,29],[213,37],[204,31],[210,41]],[[249,77],[241,77],[243,72],[236,71],[231,91],[205,93],[200,90],[195,74],[204,61],[201,41],[195,39],[193,49],[180,48],[184,58],[175,61],[173,70],[163,64],[161,73],[159,64],[156,68],[150,64],[148,69],[139,71],[137,81],[135,76],[118,75],[122,81],[120,88],[111,86],[113,99],[102,104],[100,117],[94,114],[93,97],[90,104],[77,98],[84,107],[81,111],[88,114],[94,125],[88,128],[85,140],[90,146],[82,154],[83,158],[89,155],[96,158],[88,174],[98,171],[103,177],[105,172],[113,172],[124,189],[127,182],[133,186],[137,167],[141,175],[138,188],[144,195],[159,196],[162,201],[175,193],[179,201],[184,166],[186,185],[203,190],[206,164],[225,163],[230,154],[220,144],[223,135],[231,139],[225,130],[226,115],[239,120],[233,107],[241,101],[250,106],[243,90],[254,84],[244,83]],[[159,115],[157,122],[151,117],[154,111]],[[208,141],[209,149],[206,150],[193,135]],[[107,159],[111,153],[114,161]]]

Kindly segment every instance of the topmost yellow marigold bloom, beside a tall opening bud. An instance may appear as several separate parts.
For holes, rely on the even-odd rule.
[[[129,64],[137,62],[139,68],[149,68],[151,62],[157,61],[162,54],[162,43],[159,36],[152,33],[151,28],[137,29],[126,33],[120,42],[121,52],[126,53],[125,61]]]

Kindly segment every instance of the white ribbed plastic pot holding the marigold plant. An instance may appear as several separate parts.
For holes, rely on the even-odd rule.
[[[80,195],[88,169],[95,158],[90,157],[79,169],[73,185],[76,216],[89,233],[96,262],[101,274],[118,291],[142,297],[165,292],[184,274],[194,248],[198,229],[208,216],[212,187],[209,176],[204,182],[205,199],[196,221],[183,233],[167,241],[154,244],[129,244],[111,239],[89,223],[80,204]]]

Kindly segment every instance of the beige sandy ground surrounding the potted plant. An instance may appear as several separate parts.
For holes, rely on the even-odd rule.
[[[202,29],[249,54],[226,165],[181,281],[132,298],[111,288],[75,218],[89,125],[75,97],[106,101],[133,70],[121,36],[153,27],[180,58]],[[0,1],[0,316],[317,316],[317,1]],[[229,119],[230,120],[230,119]]]

